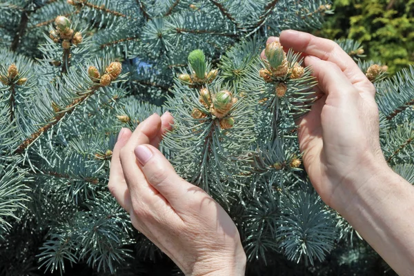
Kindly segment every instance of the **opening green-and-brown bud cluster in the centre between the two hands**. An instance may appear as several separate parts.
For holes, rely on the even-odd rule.
[[[194,108],[191,116],[194,119],[203,119],[208,115],[213,115],[219,119],[221,129],[232,128],[235,124],[235,119],[230,117],[229,113],[233,105],[237,103],[237,99],[233,97],[228,90],[221,90],[215,95],[211,95],[207,88],[201,88],[199,92],[200,103],[208,110],[208,114]]]

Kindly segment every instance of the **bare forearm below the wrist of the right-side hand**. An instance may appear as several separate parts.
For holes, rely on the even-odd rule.
[[[342,215],[399,275],[414,275],[414,187],[384,167],[355,186]]]

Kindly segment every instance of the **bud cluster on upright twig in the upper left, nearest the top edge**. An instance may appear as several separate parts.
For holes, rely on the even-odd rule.
[[[55,43],[61,43],[63,49],[69,49],[72,45],[78,45],[82,42],[81,32],[75,32],[70,28],[70,20],[66,17],[56,17],[55,30],[50,30],[49,37]]]

